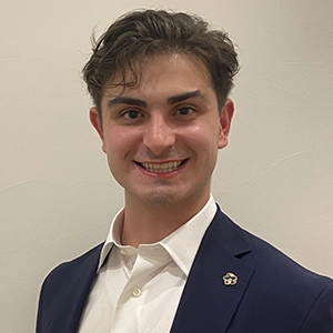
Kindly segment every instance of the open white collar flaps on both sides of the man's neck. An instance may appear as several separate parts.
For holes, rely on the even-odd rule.
[[[209,201],[199,213],[159,242],[186,276],[189,275],[204,232],[216,213],[216,209],[213,195],[211,194]],[[123,214],[124,209],[121,209],[112,220],[100,254],[98,271],[101,269],[113,244],[120,244]]]

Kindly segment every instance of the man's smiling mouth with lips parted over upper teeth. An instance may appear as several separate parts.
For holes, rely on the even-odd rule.
[[[144,162],[134,161],[134,163],[138,165],[138,169],[144,174],[153,176],[171,176],[181,172],[188,161],[189,159]]]

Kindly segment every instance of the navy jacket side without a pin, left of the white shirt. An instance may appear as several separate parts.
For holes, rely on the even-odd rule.
[[[102,246],[97,245],[48,274],[39,297],[37,333],[75,332],[95,276]]]

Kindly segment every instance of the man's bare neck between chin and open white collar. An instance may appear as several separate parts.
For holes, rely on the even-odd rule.
[[[138,202],[125,193],[124,222],[121,233],[123,245],[138,248],[163,240],[199,213],[210,194],[201,200],[181,201],[165,206]]]

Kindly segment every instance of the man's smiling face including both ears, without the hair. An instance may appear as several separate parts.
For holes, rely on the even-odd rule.
[[[204,204],[233,103],[219,110],[204,65],[189,56],[159,56],[141,69],[138,87],[105,89],[102,124],[90,111],[125,204]]]

